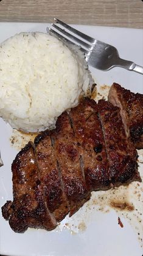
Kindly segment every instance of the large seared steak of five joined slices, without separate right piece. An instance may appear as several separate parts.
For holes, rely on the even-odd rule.
[[[21,149],[12,164],[13,202],[2,206],[15,232],[51,230],[75,213],[92,190],[141,181],[136,149],[124,129],[120,109],[83,98]]]

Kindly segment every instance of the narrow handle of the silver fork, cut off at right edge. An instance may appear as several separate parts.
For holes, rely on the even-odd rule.
[[[143,75],[143,67],[135,64],[132,61],[126,61],[125,59],[119,58],[117,61],[117,66],[124,67],[124,69],[128,69],[130,71],[135,71],[135,72],[141,73]]]

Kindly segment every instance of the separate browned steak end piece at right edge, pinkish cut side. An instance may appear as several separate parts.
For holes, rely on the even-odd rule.
[[[120,108],[125,130],[131,136],[134,146],[143,148],[143,95],[113,83],[108,100]]]

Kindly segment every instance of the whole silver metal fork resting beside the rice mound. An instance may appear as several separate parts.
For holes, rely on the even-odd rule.
[[[50,34],[58,37],[64,42],[79,45],[81,47],[80,50],[85,53],[86,61],[90,66],[100,70],[110,70],[113,67],[124,67],[124,69],[135,71],[143,75],[143,67],[132,61],[121,59],[117,49],[112,45],[108,45],[107,43],[103,43],[87,36],[86,34],[83,34],[83,32],[72,28],[57,18],[54,18],[54,20],[58,26],[57,24],[52,23],[51,28],[47,28],[47,32],[50,32]],[[69,33],[69,31],[71,31],[71,33]]]

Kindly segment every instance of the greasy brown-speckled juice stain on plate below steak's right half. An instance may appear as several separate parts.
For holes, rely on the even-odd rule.
[[[114,210],[117,213],[116,223],[119,223],[120,218],[124,228],[126,219],[138,235],[142,247],[142,191],[142,184],[133,182],[128,186],[92,192],[91,199],[72,217],[66,216],[56,230],[61,232],[67,229],[72,235],[84,232],[91,222],[96,221],[97,212],[108,214]]]

